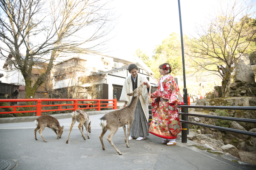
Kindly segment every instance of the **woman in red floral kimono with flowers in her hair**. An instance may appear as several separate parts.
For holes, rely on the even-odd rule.
[[[163,144],[176,145],[177,134],[181,131],[178,105],[184,105],[180,89],[174,78],[169,75],[172,69],[170,64],[159,66],[160,78],[157,91],[151,94],[152,122],[149,133],[161,137]]]

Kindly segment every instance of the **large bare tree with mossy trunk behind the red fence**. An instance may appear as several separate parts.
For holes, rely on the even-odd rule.
[[[49,79],[60,52],[103,50],[114,28],[115,18],[103,0],[0,0],[0,7],[1,59],[21,71],[26,98]],[[33,80],[32,68],[41,65],[45,71]]]

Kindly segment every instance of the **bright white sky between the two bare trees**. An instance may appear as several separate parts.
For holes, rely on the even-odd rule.
[[[127,3],[124,3],[127,2]],[[193,33],[217,0],[180,0],[182,29]],[[121,15],[108,53],[119,58],[134,57],[140,48],[150,55],[172,32],[180,34],[178,0],[114,0],[116,13]]]

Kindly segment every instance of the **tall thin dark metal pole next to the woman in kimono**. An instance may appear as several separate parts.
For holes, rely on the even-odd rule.
[[[179,5],[179,16],[180,16],[180,39],[181,39],[183,82],[184,82],[183,101],[184,101],[184,105],[188,105],[188,91],[186,88],[185,58],[184,58],[183,34],[182,34],[182,24],[181,24],[180,0],[178,0],[178,5]],[[181,108],[181,112],[188,113],[187,108]],[[181,115],[181,120],[187,121],[187,119],[188,118],[186,115]],[[187,143],[187,133],[188,133],[187,123],[181,123],[181,128],[182,128],[181,143]]]

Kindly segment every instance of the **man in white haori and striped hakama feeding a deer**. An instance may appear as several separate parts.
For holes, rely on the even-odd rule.
[[[134,121],[132,122],[132,127],[130,131],[129,140],[137,138],[136,140],[146,139],[148,136],[148,104],[150,98],[151,86],[149,81],[138,74],[138,67],[135,64],[130,64],[128,71],[131,76],[125,78],[124,86],[122,89],[120,101],[124,101],[124,107],[129,105],[132,96],[128,96],[127,93],[133,92],[134,89],[139,87],[144,83],[145,86],[142,88],[142,93],[140,95],[140,100],[137,102],[137,106],[134,111]]]

